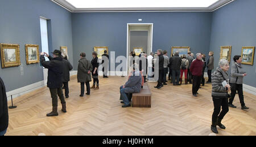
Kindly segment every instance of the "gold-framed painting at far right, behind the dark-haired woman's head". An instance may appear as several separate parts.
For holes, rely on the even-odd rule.
[[[242,64],[253,65],[255,46],[242,47]]]

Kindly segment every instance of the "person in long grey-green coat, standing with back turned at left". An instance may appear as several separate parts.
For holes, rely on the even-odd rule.
[[[81,94],[80,97],[84,97],[84,84],[86,85],[86,95],[90,95],[90,81],[92,77],[90,73],[92,72],[92,63],[87,60],[85,53],[80,54],[79,66],[77,68],[77,82],[81,83]]]

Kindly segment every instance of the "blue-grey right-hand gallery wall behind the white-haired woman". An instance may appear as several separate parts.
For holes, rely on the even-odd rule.
[[[215,66],[220,59],[220,46],[232,46],[234,55],[241,55],[242,46],[256,46],[256,1],[236,0],[213,12],[210,50]],[[254,57],[255,59],[255,57]],[[233,64],[233,60],[230,62]],[[247,76],[244,83],[256,87],[256,60],[253,66],[242,64]]]

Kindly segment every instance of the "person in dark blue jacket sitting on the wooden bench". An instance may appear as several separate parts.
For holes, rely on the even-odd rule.
[[[123,100],[123,103],[125,103],[122,107],[131,106],[127,95],[141,92],[141,83],[142,83],[141,73],[139,72],[137,64],[134,64],[133,74],[130,76],[126,84],[120,87],[121,99]]]

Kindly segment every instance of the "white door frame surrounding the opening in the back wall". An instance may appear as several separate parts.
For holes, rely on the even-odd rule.
[[[154,28],[154,24],[153,23],[127,23],[127,63],[126,63],[126,74],[128,74],[129,72],[129,64],[130,64],[130,26],[149,26],[150,29],[149,30],[145,30],[145,29],[138,29],[138,30],[133,30],[133,31],[148,31],[148,54],[150,54],[152,52],[152,48],[153,48],[153,28]],[[125,74],[125,73],[123,73]]]

